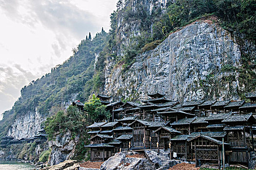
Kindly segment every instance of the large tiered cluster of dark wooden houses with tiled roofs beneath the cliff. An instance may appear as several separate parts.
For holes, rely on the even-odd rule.
[[[247,164],[255,151],[256,93],[247,101],[170,101],[164,95],[148,94],[150,99],[135,102],[109,102],[98,95],[112,113],[111,122],[88,126],[91,160],[106,160],[125,150],[169,149],[171,159],[216,162],[222,153],[226,163]],[[224,152],[222,152],[224,149]],[[224,157],[223,157],[224,158]]]

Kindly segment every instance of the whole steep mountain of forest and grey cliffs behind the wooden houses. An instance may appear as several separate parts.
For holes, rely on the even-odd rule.
[[[21,89],[0,121],[0,136],[33,137],[47,117],[93,93],[138,102],[154,92],[181,102],[244,99],[256,90],[254,6],[252,0],[119,0],[109,33],[82,40],[67,61]],[[58,154],[51,164],[63,159]]]

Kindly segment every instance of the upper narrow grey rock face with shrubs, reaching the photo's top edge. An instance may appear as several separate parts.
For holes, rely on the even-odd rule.
[[[170,1],[172,0],[125,0],[122,2],[115,15],[117,44],[113,51],[118,56],[123,56],[131,44],[138,42],[136,37],[140,35],[151,37],[154,20],[159,19]]]

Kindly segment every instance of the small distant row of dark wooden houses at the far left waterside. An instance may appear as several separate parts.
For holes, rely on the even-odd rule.
[[[0,147],[6,148],[8,145],[19,145],[23,143],[43,143],[47,140],[47,134],[45,134],[45,130],[42,128],[38,131],[38,134],[31,138],[21,138],[14,139],[13,136],[3,136],[1,137]]]

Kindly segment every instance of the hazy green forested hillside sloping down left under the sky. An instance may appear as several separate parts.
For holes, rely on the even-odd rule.
[[[106,46],[107,37],[107,33],[102,29],[93,40],[82,40],[78,47],[73,49],[74,55],[67,61],[52,68],[51,73],[24,86],[20,90],[19,100],[10,111],[4,113],[4,118],[0,121],[0,136],[6,135],[14,119],[28,112],[35,112],[35,108],[46,118],[64,109],[75,99],[85,101],[92,91],[98,91],[104,83],[100,80],[102,77],[98,71],[104,67],[102,51]],[[95,66],[96,56],[98,64]]]

